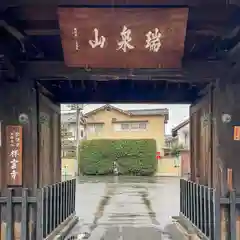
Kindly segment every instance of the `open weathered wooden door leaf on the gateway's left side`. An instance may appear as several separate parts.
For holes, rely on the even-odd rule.
[[[41,93],[39,86],[39,186],[61,181],[60,105]]]

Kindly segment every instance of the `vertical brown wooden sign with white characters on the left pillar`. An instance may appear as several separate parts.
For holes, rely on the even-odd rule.
[[[22,126],[6,127],[7,185],[22,186]]]

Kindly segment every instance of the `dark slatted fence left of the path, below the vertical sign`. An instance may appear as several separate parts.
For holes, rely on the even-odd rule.
[[[1,236],[45,239],[75,213],[75,191],[75,179],[40,188],[37,196],[31,196],[28,189],[14,196],[15,190],[7,189],[7,196],[0,196]]]

